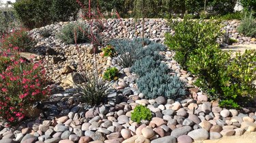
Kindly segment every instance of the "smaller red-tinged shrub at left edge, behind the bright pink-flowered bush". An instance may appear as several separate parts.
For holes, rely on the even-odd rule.
[[[35,42],[29,37],[26,29],[20,29],[9,33],[1,39],[1,48],[8,50],[9,48],[18,48],[20,51],[29,51]],[[11,50],[12,50],[11,49]]]

